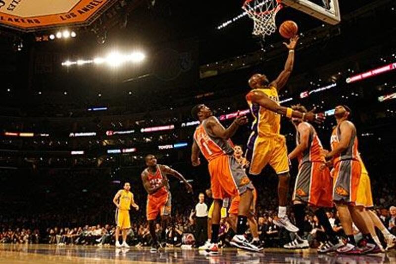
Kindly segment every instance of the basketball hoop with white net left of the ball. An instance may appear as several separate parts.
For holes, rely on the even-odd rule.
[[[246,0],[242,8],[253,19],[253,35],[264,39],[276,31],[275,16],[282,8],[280,0]]]

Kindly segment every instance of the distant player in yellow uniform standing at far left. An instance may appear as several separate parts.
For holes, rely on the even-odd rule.
[[[124,189],[119,190],[117,194],[114,196],[113,203],[117,207],[115,211],[115,222],[117,228],[115,230],[115,246],[117,248],[129,248],[127,244],[127,233],[128,229],[131,228],[131,221],[129,219],[129,210],[131,206],[139,210],[139,206],[135,203],[133,199],[133,193],[129,190],[131,189],[131,185],[129,182],[124,184]],[[122,231],[122,244],[118,240],[119,232]]]

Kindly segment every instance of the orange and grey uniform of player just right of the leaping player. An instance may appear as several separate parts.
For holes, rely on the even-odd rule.
[[[298,155],[298,174],[294,187],[293,200],[306,202],[317,207],[333,207],[332,179],[328,167],[320,168],[325,162],[321,151],[322,143],[315,128],[309,126],[308,148]],[[300,134],[297,130],[297,145],[300,144]]]

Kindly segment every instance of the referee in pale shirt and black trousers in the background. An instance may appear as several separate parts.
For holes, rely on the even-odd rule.
[[[207,240],[207,205],[205,204],[205,195],[200,193],[198,200],[195,211],[192,212],[190,217],[196,216],[195,238],[197,247],[203,245]]]

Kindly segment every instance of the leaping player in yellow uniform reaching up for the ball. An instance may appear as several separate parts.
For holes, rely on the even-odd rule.
[[[250,162],[249,172],[258,175],[269,164],[278,174],[279,211],[274,223],[291,232],[297,232],[298,228],[290,222],[286,214],[290,175],[286,140],[283,135],[280,135],[281,115],[311,122],[320,122],[323,119],[323,115],[313,113],[314,109],[301,113],[279,105],[278,92],[286,85],[292,73],[297,41],[298,36],[295,36],[290,39],[289,44],[284,43],[289,50],[289,56],[285,69],[278,78],[269,82],[264,74],[254,74],[249,79],[249,86],[252,90],[246,96],[254,118],[246,152],[246,158]]]

